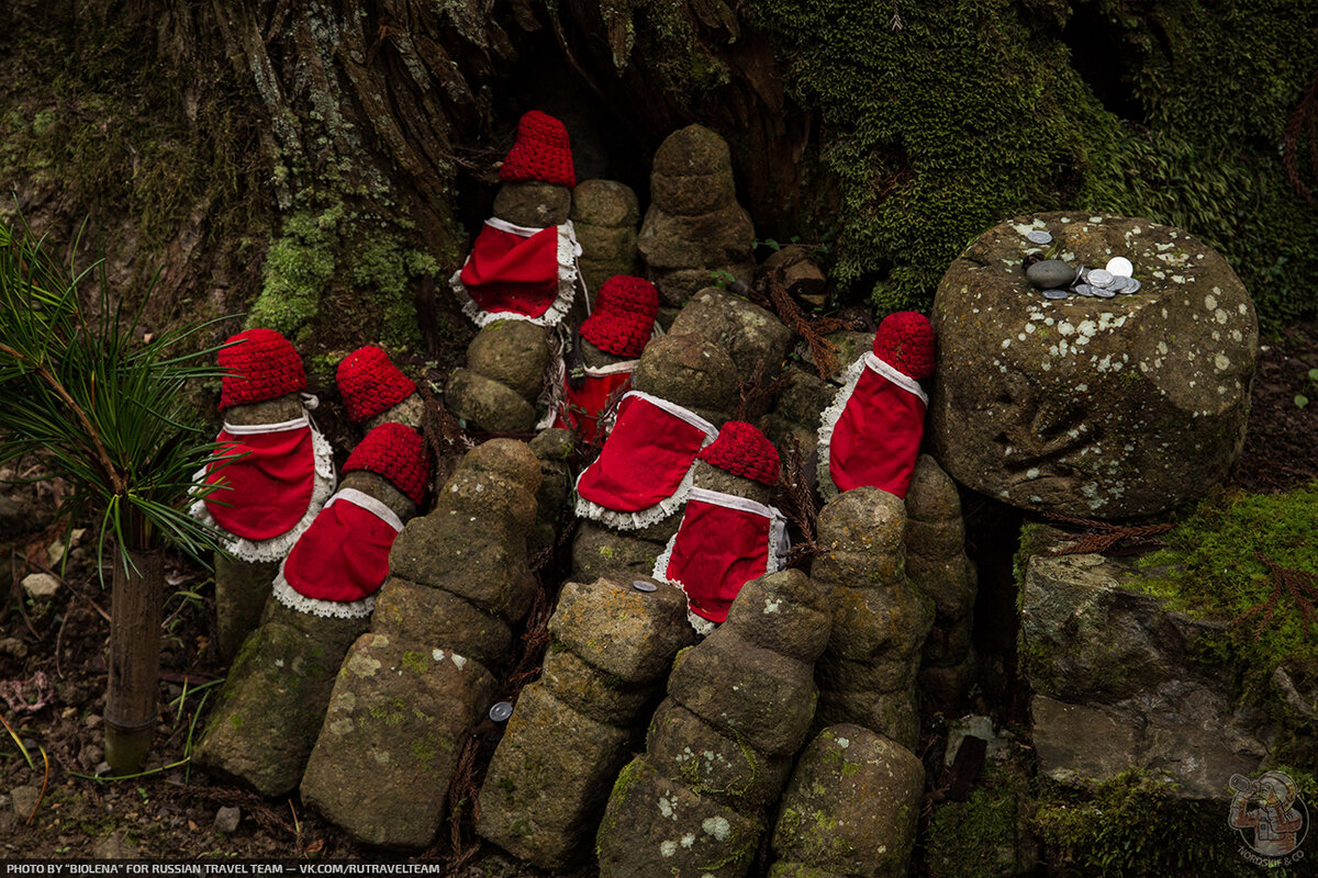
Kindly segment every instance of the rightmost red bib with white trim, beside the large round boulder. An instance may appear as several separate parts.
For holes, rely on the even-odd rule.
[[[927,399],[913,378],[874,354],[862,362],[854,387],[838,394],[845,398],[841,412],[834,403],[825,413],[820,458],[838,491],[867,484],[905,499],[924,437]]]

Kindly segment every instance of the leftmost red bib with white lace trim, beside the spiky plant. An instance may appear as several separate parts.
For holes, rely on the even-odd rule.
[[[225,424],[215,441],[225,444],[206,467],[206,484],[223,486],[204,499],[215,523],[252,541],[291,530],[311,505],[315,488],[316,461],[307,419],[258,428]],[[229,458],[237,459],[219,466]]]

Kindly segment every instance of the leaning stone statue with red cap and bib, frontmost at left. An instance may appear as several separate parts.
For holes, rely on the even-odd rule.
[[[198,763],[262,795],[298,786],[335,674],[366,628],[389,550],[430,480],[424,440],[402,424],[366,434],[344,480],[293,546],[261,627],[243,644]]]

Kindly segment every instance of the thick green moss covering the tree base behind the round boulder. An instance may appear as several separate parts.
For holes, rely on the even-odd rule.
[[[1077,72],[1062,39],[1077,9],[1116,46],[1132,118]],[[1313,312],[1318,215],[1290,191],[1277,143],[1313,72],[1318,7],[767,0],[750,14],[825,125],[837,194],[818,225],[842,217],[832,276],[871,284],[857,292],[878,308],[927,308],[967,241],[1008,216],[1081,209],[1203,238],[1272,325]]]

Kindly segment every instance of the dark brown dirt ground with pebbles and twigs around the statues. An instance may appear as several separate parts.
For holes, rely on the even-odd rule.
[[[1244,453],[1230,482],[1249,491],[1282,491],[1318,478],[1318,323],[1297,325],[1264,346],[1253,386]],[[1301,408],[1296,395],[1313,401]],[[22,475],[22,474],[20,474]],[[96,577],[91,533],[70,549],[58,592],[20,600],[17,583],[59,566],[65,533],[50,521],[59,486],[11,490],[0,503],[0,544],[13,544],[13,592],[0,607],[0,715],[28,749],[29,766],[0,731],[0,858],[16,857],[254,857],[395,860],[364,849],[303,810],[297,798],[265,800],[224,786],[186,765],[194,729],[221,681],[214,606],[204,570],[174,562],[166,607],[161,719],[149,773],[98,781],[105,690],[104,645],[109,595]],[[493,733],[497,735],[497,733]],[[494,737],[482,742],[481,758]],[[45,763],[49,761],[49,770]],[[233,829],[221,808],[237,807]],[[229,813],[229,812],[225,812]],[[453,833],[414,857],[444,864],[451,875],[538,875],[480,842],[469,808]],[[589,875],[587,869],[581,875]]]

